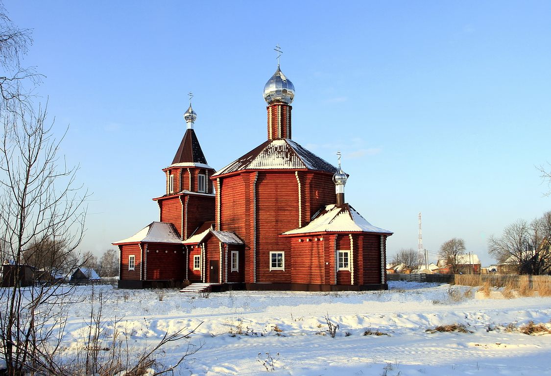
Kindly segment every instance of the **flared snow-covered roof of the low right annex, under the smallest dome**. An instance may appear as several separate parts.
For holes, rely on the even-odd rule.
[[[365,220],[352,206],[344,204],[327,205],[314,215],[312,221],[304,227],[284,232],[283,235],[297,235],[314,232],[374,232],[392,235],[392,231],[375,227]]]

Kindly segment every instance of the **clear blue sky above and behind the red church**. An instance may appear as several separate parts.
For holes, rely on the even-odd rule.
[[[296,89],[293,139],[350,174],[347,201],[395,232],[389,256],[487,238],[551,210],[551,2],[4,1],[34,30],[63,154],[93,192],[82,250],[100,255],[153,220],[161,168],[196,132],[219,169],[266,139],[264,83]],[[435,257],[433,257],[435,259]]]

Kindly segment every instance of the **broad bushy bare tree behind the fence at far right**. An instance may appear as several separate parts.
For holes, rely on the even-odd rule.
[[[488,253],[518,274],[546,274],[551,270],[551,212],[530,223],[518,220],[501,237],[490,236]]]

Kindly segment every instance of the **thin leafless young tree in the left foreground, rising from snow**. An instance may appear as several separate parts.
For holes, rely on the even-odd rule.
[[[48,265],[53,268],[58,260],[71,259],[82,239],[87,192],[75,184],[77,168],[68,168],[58,155],[61,141],[46,125],[46,111],[19,106],[1,117],[0,238],[5,256],[17,268],[29,250],[47,247],[55,252]],[[44,362],[45,354],[56,348],[41,328],[52,319],[51,305],[70,297],[56,287],[25,291],[15,277],[13,287],[0,295],[0,352],[10,375]]]

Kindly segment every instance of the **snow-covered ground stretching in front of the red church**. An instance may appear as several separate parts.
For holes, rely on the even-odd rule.
[[[233,291],[208,297],[112,287],[95,287],[94,293],[104,293],[102,316],[120,320],[135,348],[154,344],[166,331],[200,324],[188,341],[201,348],[174,374],[551,374],[551,334],[515,329],[529,321],[551,329],[551,298],[477,299],[476,288],[464,286],[389,285],[389,291]],[[83,297],[90,292],[78,290]],[[82,348],[89,315],[90,299],[71,306],[68,353]],[[334,338],[326,317],[338,325]],[[467,333],[426,331],[447,324],[462,324]],[[162,362],[170,365],[186,348],[186,340],[170,344]]]

